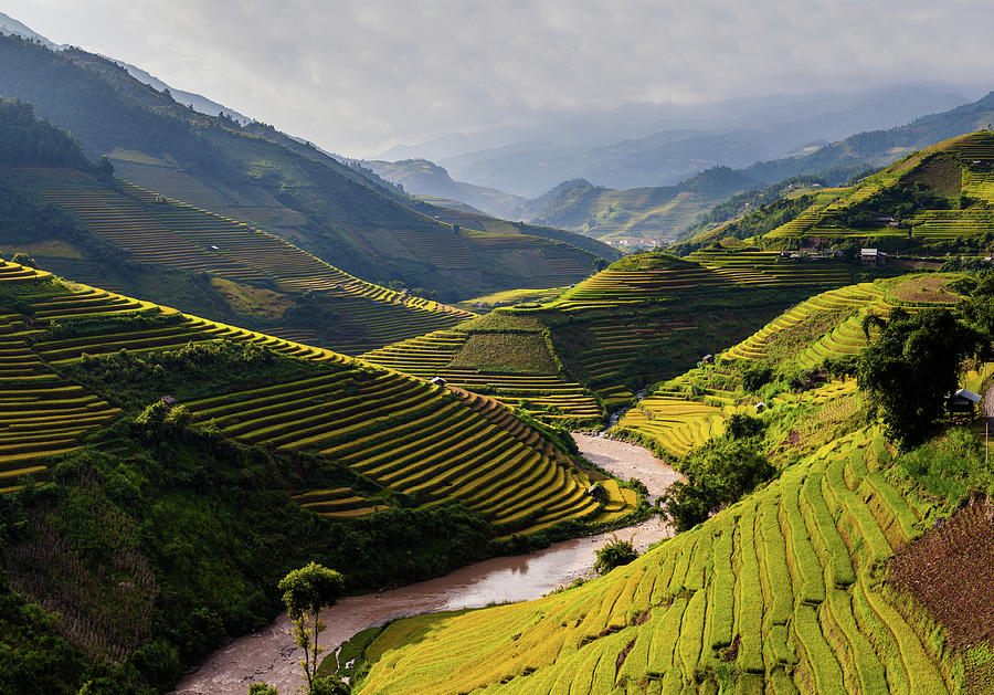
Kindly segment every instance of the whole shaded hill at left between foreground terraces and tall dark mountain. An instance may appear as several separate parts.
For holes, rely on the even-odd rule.
[[[2,248],[65,277],[352,354],[470,316],[120,179],[53,167],[0,173],[12,218]],[[54,223],[39,224],[45,217]]]

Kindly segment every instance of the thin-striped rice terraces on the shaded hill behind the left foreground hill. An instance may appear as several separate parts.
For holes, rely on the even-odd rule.
[[[361,281],[285,240],[242,222],[117,181],[98,188],[80,175],[34,170],[57,187],[45,198],[73,211],[99,236],[144,263],[208,272],[241,283],[274,282],[282,292],[319,292],[343,317],[332,347],[358,354],[454,326],[473,316],[456,307]],[[358,336],[350,338],[349,336]]]

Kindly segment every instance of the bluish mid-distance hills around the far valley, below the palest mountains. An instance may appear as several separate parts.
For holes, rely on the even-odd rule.
[[[383,178],[402,182],[409,192],[452,199],[490,214],[569,229],[621,245],[653,246],[676,239],[695,224],[698,215],[736,193],[763,189],[797,176],[817,176],[827,185],[844,183],[855,173],[888,165],[914,149],[991,123],[994,123],[994,93],[949,110],[917,117],[907,125],[857,133],[821,147],[811,145],[739,169],[712,167],[672,186],[616,190],[575,178],[535,199],[455,181],[445,168],[426,160],[366,164]],[[773,130],[775,126],[757,130],[757,141],[764,141],[764,137],[772,140]],[[670,154],[686,148],[687,161],[700,161],[700,157],[695,159],[695,146],[718,147],[725,143],[730,147],[741,135],[713,136],[707,145],[707,138],[700,137],[667,140],[667,137],[676,138],[675,133],[669,133],[641,143],[654,140]],[[634,143],[626,147],[632,157],[651,159],[649,149],[638,150]],[[663,165],[647,161],[645,166]]]

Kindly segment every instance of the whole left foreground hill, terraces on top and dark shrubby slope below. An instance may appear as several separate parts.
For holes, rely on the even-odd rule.
[[[15,263],[0,343],[17,692],[168,689],[272,620],[277,580],[310,559],[371,590],[635,512],[493,399]]]

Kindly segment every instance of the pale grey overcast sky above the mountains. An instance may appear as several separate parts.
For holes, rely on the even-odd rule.
[[[917,80],[994,88],[988,0],[14,0],[0,9],[55,43],[353,156],[620,103]]]

